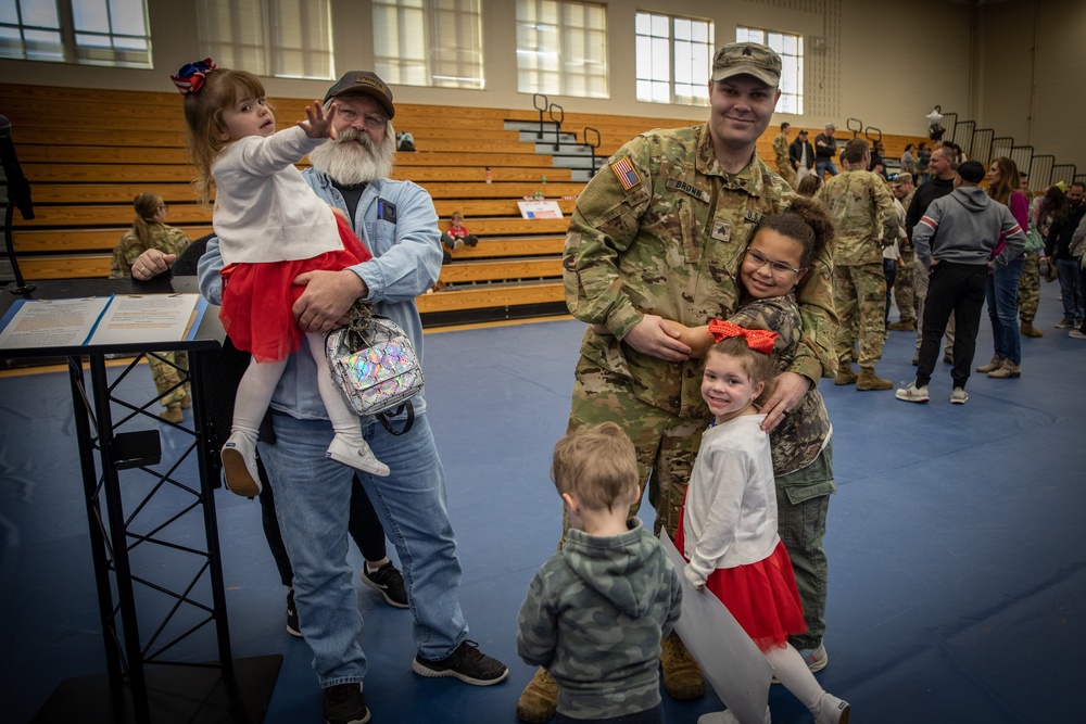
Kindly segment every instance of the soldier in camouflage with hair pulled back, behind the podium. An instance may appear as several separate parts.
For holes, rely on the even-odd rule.
[[[131,277],[132,264],[148,249],[179,256],[189,245],[189,238],[184,231],[165,224],[166,204],[162,196],[143,192],[136,196],[132,206],[136,208],[136,220],[113,249],[111,279]],[[189,383],[185,381],[188,380],[189,355],[185,352],[151,352],[147,361],[154,378],[154,389],[159,391],[159,403],[166,408],[160,417],[168,422],[180,422],[181,410],[192,403]]]

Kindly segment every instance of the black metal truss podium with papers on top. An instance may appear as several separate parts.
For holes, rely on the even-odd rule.
[[[191,427],[161,421],[157,397],[134,403],[121,391],[149,351],[198,356],[224,336],[217,309],[206,309],[190,277],[41,281],[33,292],[0,293],[0,359],[67,363],[106,659],[106,674],[61,682],[35,722],[264,719],[282,657],[230,651],[200,365],[188,370]],[[136,357],[111,382],[114,355]],[[161,460],[166,424],[189,442]],[[195,485],[178,474],[192,458]],[[148,505],[153,497],[161,503]],[[171,579],[155,580],[155,568],[172,569]],[[177,583],[178,569],[188,580]],[[212,633],[216,660],[189,660],[192,637]]]

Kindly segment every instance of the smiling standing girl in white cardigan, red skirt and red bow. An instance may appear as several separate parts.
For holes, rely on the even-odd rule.
[[[702,397],[714,421],[702,435],[675,546],[686,580],[723,602],[772,664],[776,677],[815,714],[816,724],[848,721],[848,704],[822,690],[788,636],[806,631],[792,562],[776,532],[776,488],[766,416],[755,401],[776,374],[775,332],[712,320],[717,340],[705,358]],[[731,712],[698,722],[735,722]],[[766,708],[767,724],[770,722]]]

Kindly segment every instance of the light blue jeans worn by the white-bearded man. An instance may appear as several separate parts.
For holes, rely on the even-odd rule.
[[[357,471],[325,458],[328,420],[275,414],[276,443],[260,444],[275,486],[276,515],[294,569],[294,604],[313,650],[321,688],[357,683],[366,674],[358,644],[362,614],[348,564],[348,518]],[[366,418],[363,436],[392,474],[357,472],[384,532],[400,554],[414,618],[417,652],[443,659],[467,637],[460,613],[460,563],[445,507],[445,475],[425,415],[411,432],[390,434]]]

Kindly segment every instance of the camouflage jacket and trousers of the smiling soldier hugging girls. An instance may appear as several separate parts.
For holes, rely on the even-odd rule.
[[[665,361],[621,340],[646,314],[687,327],[727,318],[738,306],[750,231],[785,206],[786,192],[757,155],[741,173],[724,173],[707,127],[697,125],[634,138],[577,199],[563,261],[566,304],[610,333],[585,330],[569,428],[614,421],[626,430],[657,533],[674,537],[709,419],[702,364]],[[824,254],[798,289],[803,345],[788,370],[812,385],[835,372],[831,268]]]

